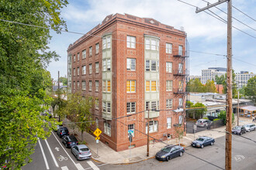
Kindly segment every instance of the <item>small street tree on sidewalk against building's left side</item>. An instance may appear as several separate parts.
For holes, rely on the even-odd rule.
[[[81,131],[81,141],[83,141],[83,133],[90,131],[92,124],[91,108],[94,106],[92,97],[82,97],[81,93],[73,93],[67,98],[67,105],[61,109],[71,121],[78,122],[78,129]]]

